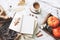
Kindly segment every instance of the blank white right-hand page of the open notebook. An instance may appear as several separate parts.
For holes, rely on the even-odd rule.
[[[21,33],[33,34],[34,18],[31,16],[24,16]]]

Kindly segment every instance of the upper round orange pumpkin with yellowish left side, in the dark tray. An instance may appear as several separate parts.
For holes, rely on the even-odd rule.
[[[56,27],[59,25],[59,19],[56,18],[55,16],[50,16],[47,20],[47,23],[51,27]]]

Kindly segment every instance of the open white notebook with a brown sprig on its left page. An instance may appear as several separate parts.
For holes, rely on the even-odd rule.
[[[9,29],[24,34],[33,34],[34,29],[36,28],[34,18],[31,16],[20,16],[20,17],[17,16],[18,15],[15,15],[15,17],[13,18]],[[16,20],[19,20],[19,22],[15,25]]]

